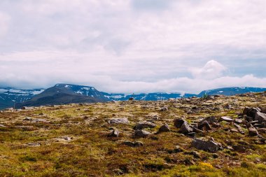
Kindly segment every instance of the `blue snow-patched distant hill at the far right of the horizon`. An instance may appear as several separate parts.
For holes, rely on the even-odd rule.
[[[197,95],[197,97],[202,97],[204,94],[214,95],[214,94],[222,94],[225,96],[231,96],[235,94],[244,94],[248,92],[265,92],[266,88],[258,88],[258,87],[225,87],[218,88],[213,90],[204,90]]]

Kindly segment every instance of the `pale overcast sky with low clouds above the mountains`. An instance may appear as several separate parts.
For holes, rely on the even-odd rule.
[[[266,87],[265,0],[1,0],[0,87]]]

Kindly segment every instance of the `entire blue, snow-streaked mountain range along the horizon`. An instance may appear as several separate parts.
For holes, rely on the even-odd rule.
[[[258,87],[225,87],[204,90],[200,94],[181,93],[142,93],[142,94],[110,94],[100,92],[94,87],[71,84],[56,84],[46,90],[22,90],[12,87],[0,88],[0,109],[22,106],[58,105],[70,103],[96,103],[106,101],[125,101],[130,98],[144,101],[179,99],[182,97],[203,97],[204,95],[222,94],[225,96],[244,94],[246,92],[264,92],[266,88]]]

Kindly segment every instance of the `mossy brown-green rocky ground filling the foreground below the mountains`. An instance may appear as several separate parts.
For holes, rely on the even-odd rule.
[[[0,176],[265,176],[266,92],[0,113]]]

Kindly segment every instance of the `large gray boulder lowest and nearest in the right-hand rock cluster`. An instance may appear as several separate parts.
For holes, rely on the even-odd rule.
[[[213,141],[213,139],[208,141],[203,139],[193,139],[191,146],[193,148],[208,151],[210,153],[216,153],[220,149],[220,145]]]

